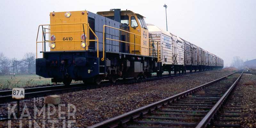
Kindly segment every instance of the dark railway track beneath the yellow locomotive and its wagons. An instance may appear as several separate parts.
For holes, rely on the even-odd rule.
[[[186,73],[186,74],[194,74],[197,72],[191,72],[191,73]],[[147,79],[139,79],[139,80],[134,80],[133,78],[128,78],[126,80],[118,80],[115,85],[119,84],[133,84],[133,83],[138,83],[138,82],[145,82],[145,81],[153,81],[153,80],[159,80],[163,78],[169,78],[173,76],[180,76],[180,75],[185,75],[185,73],[181,74],[171,74],[171,75],[163,75],[161,77],[157,76],[152,76]],[[61,93],[67,93],[67,92],[74,92],[74,91],[81,91],[81,90],[86,90],[86,89],[94,89],[94,88],[99,88],[99,87],[105,87],[112,85],[108,81],[103,81],[102,84],[100,85],[84,85],[84,83],[79,83],[79,84],[71,84],[71,86],[65,86],[65,85],[57,85],[57,86],[46,86],[46,87],[35,87],[35,88],[27,88],[25,89],[25,99],[28,98],[34,98],[34,97],[43,97],[47,95],[52,95],[52,94],[61,94]],[[15,101],[12,99],[12,90],[6,90],[6,91],[0,91],[0,104],[6,103],[6,102],[12,102]]]

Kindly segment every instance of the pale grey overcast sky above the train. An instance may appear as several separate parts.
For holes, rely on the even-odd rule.
[[[36,52],[39,24],[48,24],[49,13],[88,10],[128,9],[151,23],[223,58],[256,59],[256,0],[1,0],[0,52],[22,58]]]

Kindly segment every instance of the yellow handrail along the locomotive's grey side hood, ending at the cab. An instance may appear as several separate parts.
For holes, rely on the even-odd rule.
[[[116,29],[116,30],[120,30],[120,31],[123,31],[123,32],[127,32],[127,33],[130,33],[130,34],[133,34],[133,35],[136,35],[136,36],[140,36],[138,34],[135,34],[135,33],[132,33],[132,32],[128,32],[128,31],[125,31],[125,30],[122,30],[122,29],[119,29],[119,28],[114,28],[114,27],[111,27],[111,26],[108,26],[108,25],[103,25],[103,55],[102,55],[102,58],[101,58],[101,61],[104,61],[104,58],[105,58],[105,27],[108,27],[108,28],[113,28],[113,29]],[[110,38],[106,38],[108,40],[113,40],[113,41],[119,41],[119,42],[123,42],[123,43],[128,43],[128,44],[134,44],[134,47],[135,45],[139,45],[141,46],[140,44],[135,44],[134,43],[130,43],[130,42],[126,42],[126,41],[121,41],[121,40],[115,40],[115,39],[110,39]]]

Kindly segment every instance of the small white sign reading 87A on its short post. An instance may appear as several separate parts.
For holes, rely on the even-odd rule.
[[[25,98],[24,88],[13,88],[12,89],[12,99],[17,100],[18,107],[18,117],[20,117],[20,100]]]

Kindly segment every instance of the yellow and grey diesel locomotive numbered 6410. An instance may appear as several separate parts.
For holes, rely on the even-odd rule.
[[[66,85],[146,78],[160,71],[157,45],[144,17],[132,11],[51,12],[50,24],[38,27],[36,74]]]

